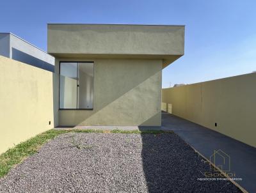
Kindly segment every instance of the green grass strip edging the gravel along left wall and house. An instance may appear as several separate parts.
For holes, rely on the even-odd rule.
[[[40,147],[60,134],[70,132],[76,133],[112,133],[112,134],[161,134],[172,133],[163,130],[93,130],[93,129],[71,129],[71,130],[48,130],[42,134],[38,134],[25,142],[17,144],[0,155],[0,178],[6,175],[12,167],[20,164],[25,158],[37,153]]]

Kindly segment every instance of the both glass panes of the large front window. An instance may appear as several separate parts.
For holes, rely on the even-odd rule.
[[[60,109],[93,109],[93,63],[60,63]]]

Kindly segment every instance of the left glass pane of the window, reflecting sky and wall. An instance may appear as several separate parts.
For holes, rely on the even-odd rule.
[[[77,63],[60,63],[60,109],[77,108]]]

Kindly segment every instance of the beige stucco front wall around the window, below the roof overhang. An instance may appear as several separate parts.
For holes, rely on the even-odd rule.
[[[56,76],[68,60],[94,61],[93,110],[55,109],[58,125],[161,125],[161,59],[59,58]]]

